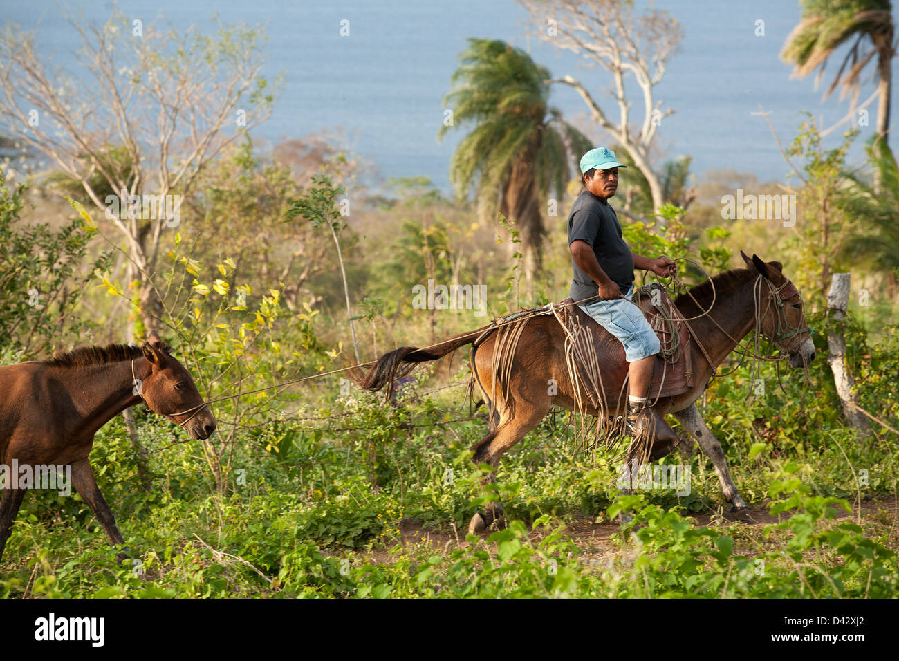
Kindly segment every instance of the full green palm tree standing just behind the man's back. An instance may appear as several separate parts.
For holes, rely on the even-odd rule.
[[[549,107],[549,71],[523,50],[501,40],[469,39],[460,59],[443,105],[452,109],[452,128],[475,126],[452,156],[450,180],[460,197],[474,189],[483,221],[498,211],[516,223],[532,293],[549,193],[561,200],[569,163],[593,145]],[[441,127],[438,138],[449,128]]]

